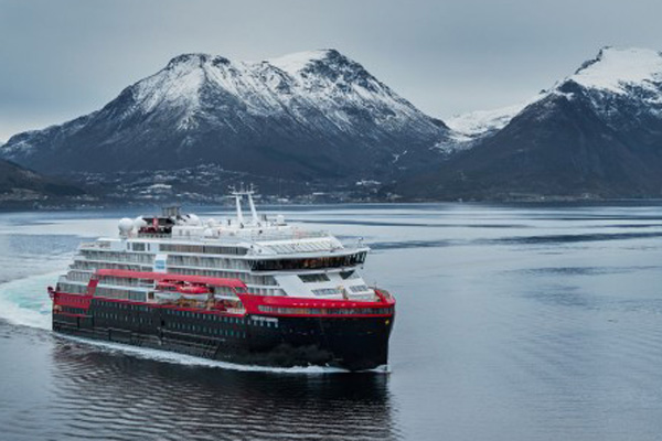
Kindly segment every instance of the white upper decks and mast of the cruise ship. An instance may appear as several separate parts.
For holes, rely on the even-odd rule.
[[[235,218],[203,220],[172,207],[158,217],[121,219],[119,237],[81,245],[58,289],[83,293],[97,269],[124,269],[241,279],[248,292],[261,295],[376,299],[357,272],[367,247],[345,247],[329,233],[301,229],[282,216],[260,216],[252,190],[233,196]],[[97,287],[104,297],[137,301],[152,301],[153,291],[153,282],[136,279],[105,278]],[[229,291],[215,297],[236,299]]]

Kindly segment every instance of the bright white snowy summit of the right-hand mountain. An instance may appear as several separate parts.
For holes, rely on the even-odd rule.
[[[650,86],[662,82],[662,53],[649,49],[606,46],[568,79],[584,87],[617,94],[627,85]]]

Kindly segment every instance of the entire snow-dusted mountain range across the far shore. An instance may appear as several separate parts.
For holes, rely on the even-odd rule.
[[[526,103],[447,126],[333,50],[257,63],[188,54],[0,155],[147,196],[223,193],[241,178],[381,198],[659,197],[662,55],[604,49]]]

